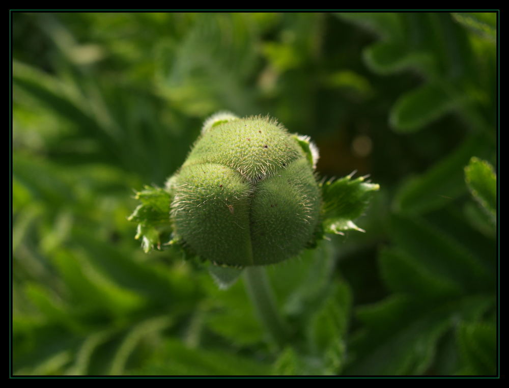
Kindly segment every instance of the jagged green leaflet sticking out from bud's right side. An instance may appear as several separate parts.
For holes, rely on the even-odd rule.
[[[364,177],[352,180],[346,176],[322,184],[324,230],[327,233],[342,234],[345,230],[358,230],[353,219],[359,217],[380,185],[365,182]]]

